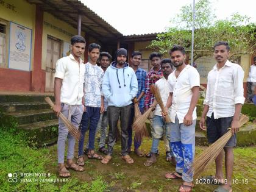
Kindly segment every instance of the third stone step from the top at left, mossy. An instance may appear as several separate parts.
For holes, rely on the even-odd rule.
[[[57,119],[57,116],[54,114],[54,112],[52,112],[51,109],[4,113],[4,115],[7,117],[7,120],[18,123],[18,125]]]

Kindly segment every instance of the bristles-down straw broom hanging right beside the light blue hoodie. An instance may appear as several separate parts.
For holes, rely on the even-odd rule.
[[[141,112],[140,112],[140,108],[138,107],[137,98],[134,98],[133,102],[134,102],[134,111],[135,111],[134,121],[136,121],[138,118],[140,118]],[[148,129],[145,123],[142,124],[141,129],[136,130],[134,137],[135,137],[135,140],[139,142],[142,141],[143,137],[149,137]]]

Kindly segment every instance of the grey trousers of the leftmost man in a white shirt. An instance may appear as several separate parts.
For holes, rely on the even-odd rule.
[[[82,105],[62,104],[61,112],[66,118],[70,118],[71,123],[78,129],[80,121],[82,119],[83,110],[84,108],[82,107]],[[74,158],[74,146],[76,140],[68,132],[68,128],[65,126],[62,119],[59,118],[59,136],[57,142],[58,163],[64,163],[66,138],[68,138],[68,152],[66,158],[72,159]]]

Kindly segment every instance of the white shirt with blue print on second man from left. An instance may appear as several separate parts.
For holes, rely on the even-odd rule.
[[[103,75],[104,71],[100,66],[90,62],[85,64],[85,106],[101,107]]]

